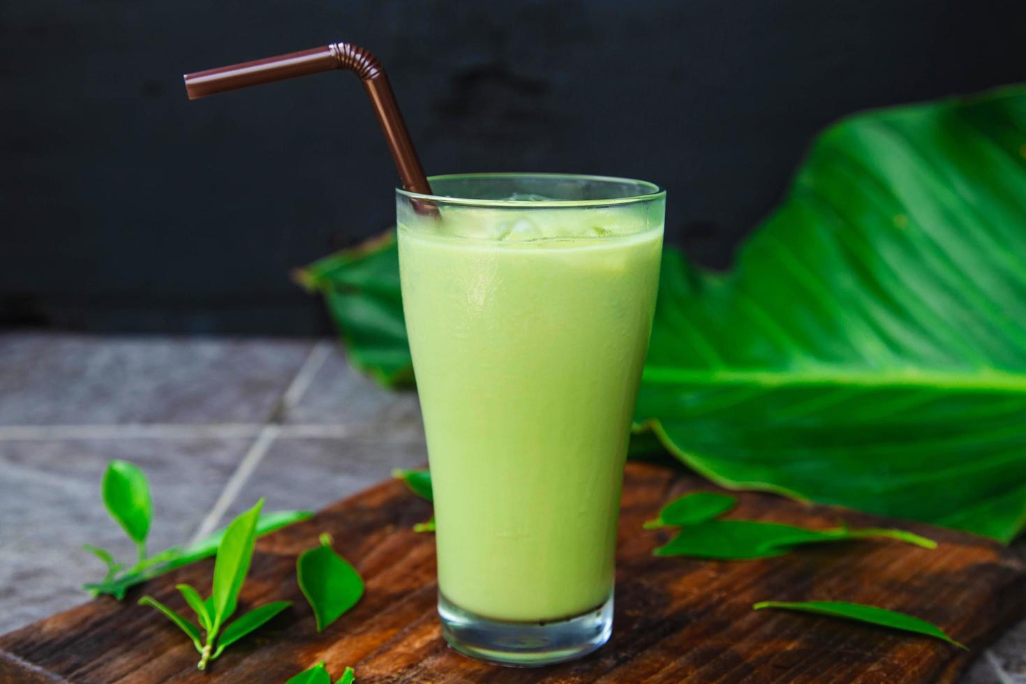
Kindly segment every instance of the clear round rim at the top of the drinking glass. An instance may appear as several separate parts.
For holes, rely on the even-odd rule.
[[[415,193],[403,188],[396,188],[395,192],[397,195],[402,197],[422,200],[425,202],[430,202],[432,204],[458,204],[462,206],[476,206],[476,207],[516,207],[516,208],[570,208],[570,207],[587,207],[587,206],[609,206],[617,204],[635,204],[640,202],[650,202],[653,200],[658,200],[666,197],[666,189],[656,185],[655,183],[648,183],[647,180],[638,180],[637,178],[626,178],[615,175],[593,175],[588,173],[532,173],[529,171],[499,171],[499,172],[485,172],[485,173],[442,173],[440,175],[429,175],[428,183],[434,180],[450,180],[450,179],[468,179],[468,178],[553,178],[560,180],[597,180],[601,183],[619,183],[619,184],[633,184],[638,186],[642,190],[647,190],[649,192],[642,193],[639,195],[630,195],[628,197],[610,197],[606,199],[594,199],[594,200],[497,200],[497,199],[480,199],[474,197],[451,197],[446,195],[431,195],[427,193]]]

